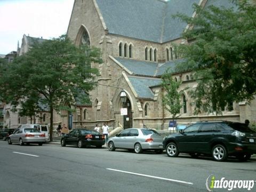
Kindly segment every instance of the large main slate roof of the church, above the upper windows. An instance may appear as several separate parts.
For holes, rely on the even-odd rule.
[[[180,37],[186,27],[172,14],[193,14],[199,0],[96,0],[110,34],[163,43]]]

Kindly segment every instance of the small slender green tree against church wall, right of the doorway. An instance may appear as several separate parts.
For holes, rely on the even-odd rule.
[[[169,71],[165,71],[162,75],[162,87],[163,93],[163,106],[164,108],[172,114],[172,121],[177,118],[177,114],[180,113],[180,109],[183,106],[181,103],[181,92],[178,91],[181,82],[173,81],[172,76]]]

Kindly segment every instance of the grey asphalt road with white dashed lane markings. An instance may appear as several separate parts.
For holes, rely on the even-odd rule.
[[[33,155],[33,156],[31,156]],[[206,179],[255,180],[256,158],[215,162],[126,150],[8,145],[0,141],[0,191],[207,191]],[[213,191],[228,191],[214,189]],[[233,191],[248,191],[234,189]],[[250,191],[256,191],[255,186]]]

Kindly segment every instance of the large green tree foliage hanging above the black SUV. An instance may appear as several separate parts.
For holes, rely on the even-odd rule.
[[[180,70],[192,70],[198,86],[191,91],[196,113],[220,112],[232,102],[253,99],[256,92],[256,5],[233,1],[235,8],[194,5],[195,18],[178,14],[188,23],[180,45],[186,59]]]

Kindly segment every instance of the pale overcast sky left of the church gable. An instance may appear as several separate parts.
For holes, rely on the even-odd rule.
[[[66,34],[74,0],[0,0],[0,54],[17,51],[24,34],[51,39]]]

